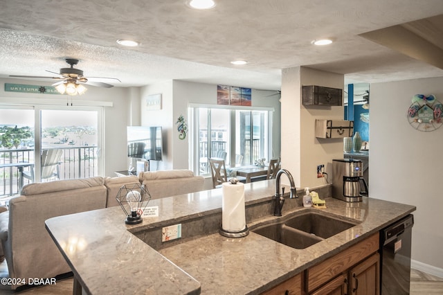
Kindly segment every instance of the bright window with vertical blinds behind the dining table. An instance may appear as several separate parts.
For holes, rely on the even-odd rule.
[[[192,107],[191,113],[192,134],[198,134],[190,140],[191,166],[196,174],[210,173],[211,157],[224,159],[226,166],[247,166],[257,159],[270,159],[271,110]]]

